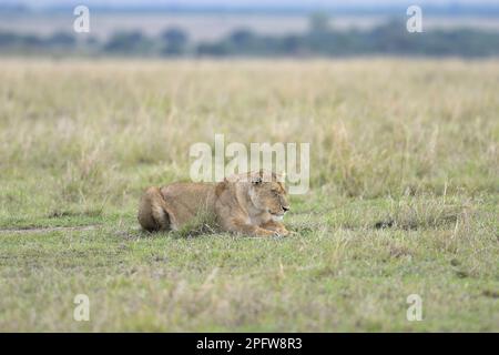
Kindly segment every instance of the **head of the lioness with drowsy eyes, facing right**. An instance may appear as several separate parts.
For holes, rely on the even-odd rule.
[[[266,175],[259,172],[252,176],[249,187],[249,197],[255,207],[268,212],[274,221],[283,220],[289,210],[286,189],[278,180],[275,173]]]

